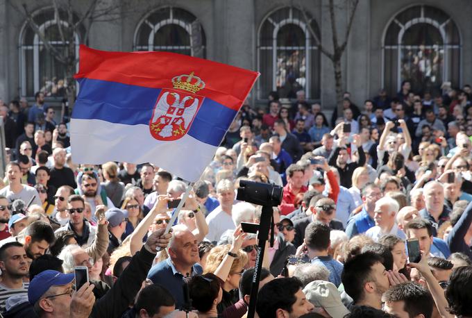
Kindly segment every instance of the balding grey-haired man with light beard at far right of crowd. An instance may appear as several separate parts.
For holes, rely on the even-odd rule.
[[[444,187],[437,181],[426,183],[423,190],[425,208],[419,211],[423,219],[432,224],[432,233],[437,236],[437,229],[449,219],[450,210],[444,205]]]

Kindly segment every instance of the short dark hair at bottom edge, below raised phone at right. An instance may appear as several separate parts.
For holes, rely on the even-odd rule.
[[[425,318],[432,315],[434,301],[430,292],[417,283],[402,283],[393,285],[384,294],[385,302],[403,301],[403,310],[408,312],[409,317],[423,314]]]

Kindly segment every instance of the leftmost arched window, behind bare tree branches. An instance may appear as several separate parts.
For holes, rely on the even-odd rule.
[[[33,15],[35,24],[44,34],[44,38],[57,51],[65,51],[69,42],[62,41],[58,23],[67,26],[67,17],[60,13],[60,17],[54,15],[54,10],[41,10]],[[76,56],[78,56],[79,37],[74,34]],[[35,92],[44,92],[47,97],[64,97],[67,87],[66,67],[56,60],[44,47],[33,28],[26,23],[19,35],[19,70],[22,96],[32,97]]]

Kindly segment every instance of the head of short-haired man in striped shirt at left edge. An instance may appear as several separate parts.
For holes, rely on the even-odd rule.
[[[0,247],[0,269],[2,276],[10,279],[25,278],[28,275],[28,256],[22,243],[8,242]]]

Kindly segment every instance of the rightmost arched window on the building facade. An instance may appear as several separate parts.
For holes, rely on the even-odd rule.
[[[412,6],[387,26],[383,43],[383,86],[390,94],[410,81],[414,92],[439,92],[441,83],[460,85],[460,34],[442,10]]]

